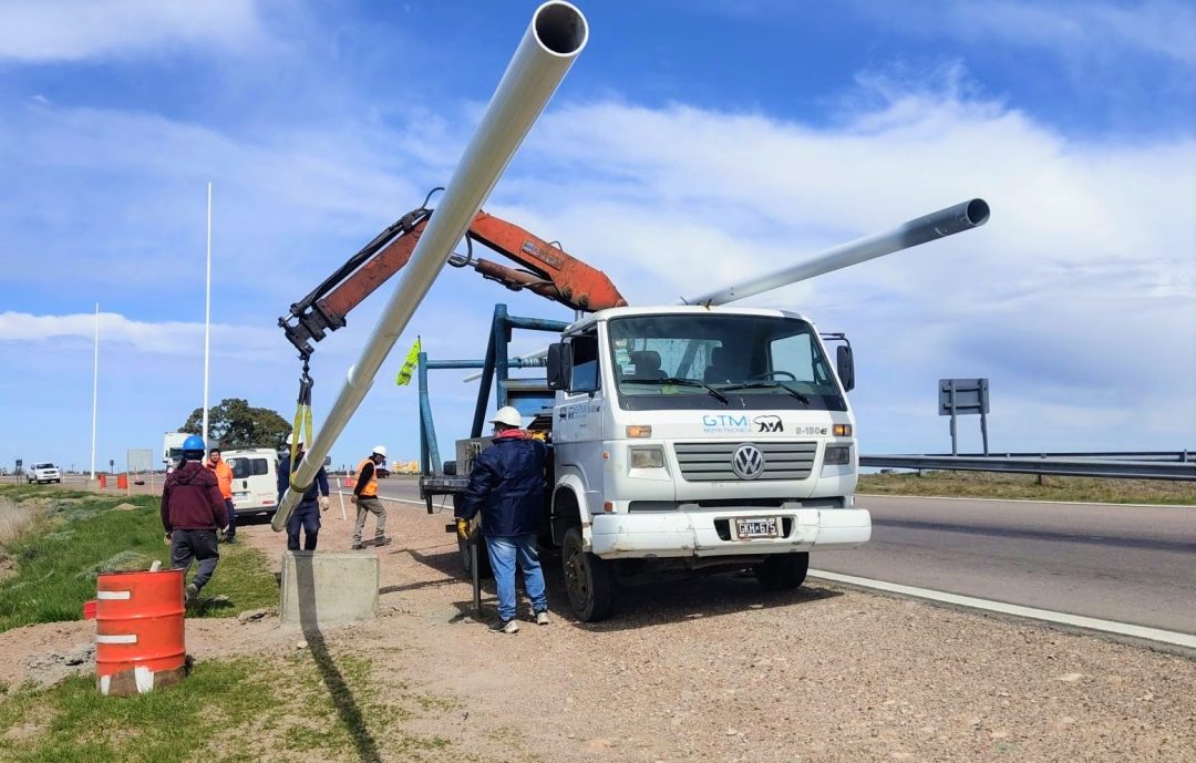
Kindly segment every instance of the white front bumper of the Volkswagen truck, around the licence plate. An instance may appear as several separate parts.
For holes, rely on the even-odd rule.
[[[771,517],[782,537],[737,538],[736,519]],[[590,551],[602,558],[758,556],[854,548],[872,537],[872,515],[865,508],[599,514],[588,535]]]

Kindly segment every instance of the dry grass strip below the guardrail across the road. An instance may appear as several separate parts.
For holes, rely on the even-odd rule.
[[[1196,483],[1167,480],[1008,475],[984,471],[923,471],[861,475],[858,490],[873,495],[1078,501],[1087,503],[1160,503],[1196,506]]]

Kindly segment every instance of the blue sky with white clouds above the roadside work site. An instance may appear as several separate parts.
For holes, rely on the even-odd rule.
[[[536,5],[5,2],[0,463],[86,468],[97,300],[98,460],[200,404],[208,182],[210,399],[289,416],[275,318],[448,178]],[[935,382],[977,376],[997,450],[1196,442],[1190,4],[581,7],[590,44],[488,210],[649,304],[982,196],[980,231],[751,300],[850,335],[864,451],[947,447]],[[480,355],[495,300],[568,316],[444,273],[336,463],[417,454],[402,355]],[[318,347],[317,423],[382,301]],[[459,379],[435,382],[445,441]]]

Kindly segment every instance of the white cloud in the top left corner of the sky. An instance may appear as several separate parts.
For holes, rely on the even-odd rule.
[[[177,45],[248,45],[256,0],[8,0],[0,61],[128,57]]]

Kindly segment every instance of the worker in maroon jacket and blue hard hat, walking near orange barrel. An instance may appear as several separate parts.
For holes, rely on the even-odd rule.
[[[220,561],[216,530],[228,526],[220,483],[210,469],[203,468],[203,440],[194,434],[183,442],[183,460],[166,477],[161,490],[161,526],[166,530],[171,566],[183,570],[184,580],[191,560],[200,562],[200,570],[187,586],[190,604]]]

